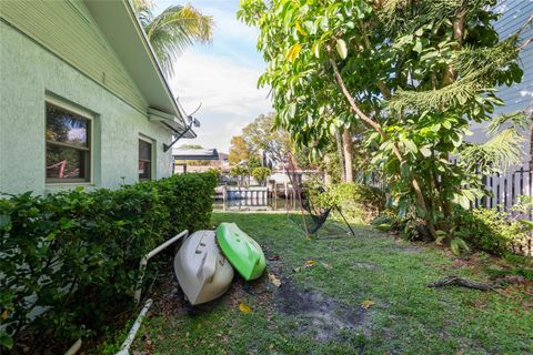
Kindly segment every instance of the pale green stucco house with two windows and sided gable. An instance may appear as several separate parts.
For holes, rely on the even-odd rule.
[[[1,193],[172,173],[185,115],[127,1],[0,1],[0,17]]]

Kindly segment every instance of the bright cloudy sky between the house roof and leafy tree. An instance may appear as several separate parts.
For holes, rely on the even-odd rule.
[[[258,30],[237,20],[239,0],[155,0],[159,11],[190,3],[215,21],[213,42],[195,44],[180,55],[169,81],[185,112],[194,111],[198,138],[180,144],[200,144],[229,152],[230,140],[261,113],[272,111],[269,89],[258,89],[264,62],[257,51]]]

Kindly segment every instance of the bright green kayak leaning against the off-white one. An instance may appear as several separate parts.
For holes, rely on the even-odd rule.
[[[255,280],[266,267],[266,260],[258,242],[242,232],[235,223],[221,223],[217,227],[217,242],[231,265],[247,281]]]

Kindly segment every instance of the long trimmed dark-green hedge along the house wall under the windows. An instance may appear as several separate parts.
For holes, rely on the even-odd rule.
[[[183,174],[115,191],[0,199],[2,345],[100,331],[131,305],[143,254],[209,226],[215,184],[213,174]]]

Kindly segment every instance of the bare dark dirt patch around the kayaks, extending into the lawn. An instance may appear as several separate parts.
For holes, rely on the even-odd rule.
[[[198,314],[210,312],[220,306],[239,307],[239,304],[249,296],[254,298],[254,307],[262,307],[270,322],[273,313],[294,317],[298,323],[296,333],[313,334],[319,342],[330,339],[343,341],[343,332],[356,332],[370,335],[372,310],[360,305],[349,306],[319,292],[304,290],[283,276],[283,261],[279,255],[265,253],[268,267],[259,280],[245,282],[235,276],[230,290],[220,298],[212,302],[191,306],[184,301],[173,270],[160,275],[157,287],[152,292],[154,305],[151,314],[160,314],[174,318],[177,316],[194,317]],[[355,263],[358,267],[374,268],[370,263]],[[281,286],[274,286],[268,274],[281,280]]]

